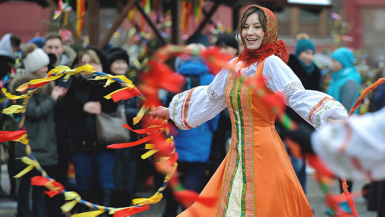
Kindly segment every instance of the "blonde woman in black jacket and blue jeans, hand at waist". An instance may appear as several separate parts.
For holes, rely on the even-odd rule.
[[[95,71],[110,74],[107,59],[95,48],[85,48],[79,53],[78,60],[79,66],[91,64]],[[99,205],[111,206],[115,152],[97,141],[95,124],[97,114],[116,112],[117,104],[104,96],[118,90],[120,84],[114,82],[104,87],[103,81],[89,80],[94,77],[93,74],[74,76],[64,98],[64,110],[70,120],[71,152],[79,194],[83,199],[89,199],[94,170],[100,189]],[[87,212],[87,209],[81,206],[80,212]]]

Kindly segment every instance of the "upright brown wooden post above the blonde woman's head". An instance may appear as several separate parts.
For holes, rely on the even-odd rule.
[[[88,37],[90,45],[97,45],[99,43],[99,13],[100,0],[89,0],[88,3]]]

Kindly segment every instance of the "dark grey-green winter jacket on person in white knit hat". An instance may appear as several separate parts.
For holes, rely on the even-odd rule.
[[[33,79],[32,76],[22,76],[15,78],[15,83],[25,83],[31,79]],[[55,165],[58,161],[54,124],[56,100],[51,97],[49,89],[49,85],[46,85],[35,92],[25,111],[24,126],[27,130],[29,144],[33,155],[42,166]],[[25,145],[17,142],[15,156],[16,158],[27,156]]]

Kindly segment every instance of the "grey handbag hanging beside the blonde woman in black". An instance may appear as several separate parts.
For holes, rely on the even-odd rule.
[[[117,143],[126,143],[130,141],[130,131],[126,127],[126,113],[124,105],[119,104],[116,112],[96,115],[96,133],[99,144],[109,146]]]

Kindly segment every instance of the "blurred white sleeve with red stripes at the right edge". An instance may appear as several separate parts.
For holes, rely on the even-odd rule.
[[[314,151],[337,175],[349,180],[385,178],[385,108],[327,123],[313,133]]]

